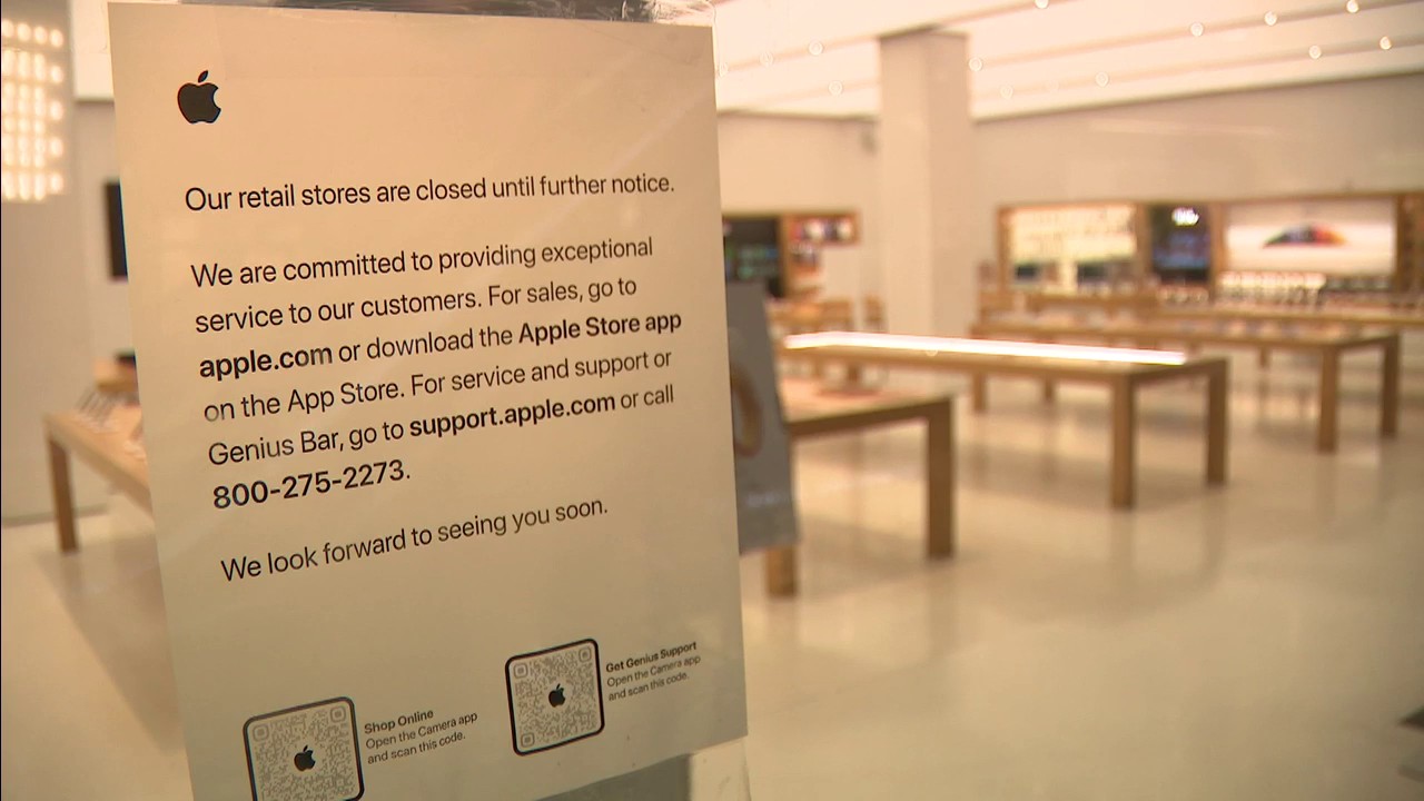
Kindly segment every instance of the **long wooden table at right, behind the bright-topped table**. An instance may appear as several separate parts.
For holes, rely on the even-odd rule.
[[[1320,361],[1320,413],[1316,423],[1316,449],[1333,453],[1340,442],[1340,358],[1351,351],[1378,349],[1380,359],[1380,436],[1391,438],[1400,426],[1400,335],[1339,332],[1263,332],[1218,328],[1183,328],[1165,324],[1084,325],[1035,321],[990,321],[970,326],[974,336],[1011,336],[1057,342],[1064,339],[1092,342],[1128,342],[1141,346],[1182,343],[1189,346],[1249,348],[1267,353],[1290,351],[1310,353]],[[1051,388],[1045,388],[1051,396]]]

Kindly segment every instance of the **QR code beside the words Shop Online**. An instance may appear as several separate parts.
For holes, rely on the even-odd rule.
[[[258,715],[242,737],[253,801],[355,801],[366,790],[350,698]]]

